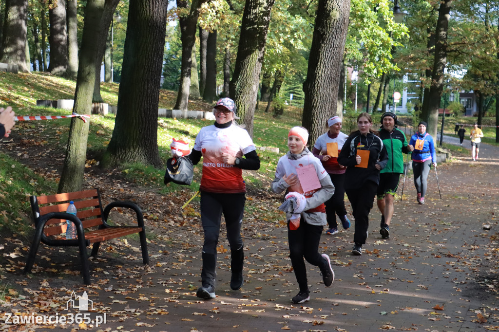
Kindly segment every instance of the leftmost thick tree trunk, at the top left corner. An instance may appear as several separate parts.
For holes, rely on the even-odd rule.
[[[5,1],[0,49],[0,62],[17,65],[22,72],[29,72],[29,67],[26,66],[27,9],[27,0]]]

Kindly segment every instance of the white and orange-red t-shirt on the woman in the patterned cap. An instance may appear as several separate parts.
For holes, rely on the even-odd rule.
[[[246,192],[243,169],[225,164],[222,154],[229,153],[241,158],[256,150],[248,132],[236,125],[217,128],[215,125],[201,128],[194,150],[203,156],[203,175],[200,189],[209,192]]]

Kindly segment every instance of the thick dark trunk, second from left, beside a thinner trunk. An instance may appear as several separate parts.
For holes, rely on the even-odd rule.
[[[55,4],[54,4],[55,3]],[[50,62],[48,71],[57,76],[66,74],[67,58],[67,29],[66,29],[66,0],[49,0],[50,35]]]

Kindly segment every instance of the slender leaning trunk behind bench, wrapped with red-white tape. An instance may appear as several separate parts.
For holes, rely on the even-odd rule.
[[[95,80],[95,57],[98,44],[99,26],[104,10],[104,0],[87,0],[85,22],[81,39],[80,63],[74,93],[73,112],[90,114],[92,107],[93,83]],[[89,121],[71,119],[66,159],[62,169],[57,192],[79,191],[83,183],[87,152]]]

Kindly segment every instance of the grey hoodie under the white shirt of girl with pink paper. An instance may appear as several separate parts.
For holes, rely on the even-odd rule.
[[[287,157],[288,159],[291,160],[298,160],[305,156],[308,156],[308,158],[316,158],[307,148],[303,149],[303,151],[299,155],[292,154],[288,151],[287,154],[282,158]],[[282,158],[280,160],[282,160]],[[317,207],[320,204],[324,203],[333,195],[334,185],[331,182],[331,178],[329,176],[325,176],[324,178],[322,178],[320,180],[320,184],[321,188],[318,189],[316,192],[314,192],[312,197],[307,198],[304,209],[305,212],[301,213],[301,218],[303,218],[303,220],[305,220],[307,223],[311,225],[324,226],[327,224],[326,214],[324,212],[311,212],[311,213],[306,212],[307,210]],[[270,188],[272,189],[273,192],[276,193],[286,191],[288,187],[289,184],[287,184],[286,181],[282,179],[282,177],[274,177],[274,180],[270,184]],[[286,218],[287,220],[289,220],[291,218],[291,214],[286,213]]]

